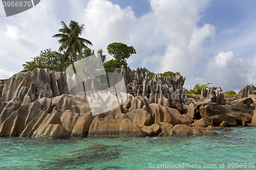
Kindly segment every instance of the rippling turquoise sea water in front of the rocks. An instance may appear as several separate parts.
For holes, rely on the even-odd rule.
[[[165,165],[162,169],[256,169],[248,168],[256,164],[255,127],[216,132],[169,138],[0,138],[0,169],[160,169],[153,168],[158,164]]]

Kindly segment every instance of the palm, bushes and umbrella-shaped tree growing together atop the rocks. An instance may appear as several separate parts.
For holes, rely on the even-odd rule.
[[[60,47],[58,52],[48,48],[41,51],[39,56],[32,58],[32,61],[23,64],[23,72],[33,70],[35,68],[48,68],[53,71],[65,71],[69,65],[83,58],[94,55],[94,50],[91,50],[88,45],[93,45],[91,41],[81,38],[84,30],[84,25],[79,25],[78,22],[71,20],[69,27],[64,21],[61,21],[62,28],[58,31],[59,34],[53,37],[59,38]],[[98,50],[97,54],[101,57],[102,63],[106,72],[113,72],[122,65],[127,67],[126,59],[132,54],[136,54],[133,46],[127,46],[121,42],[114,42],[108,45],[108,53],[114,59],[106,61],[106,55],[103,55],[103,50]]]

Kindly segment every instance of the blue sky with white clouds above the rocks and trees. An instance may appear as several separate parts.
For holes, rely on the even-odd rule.
[[[0,5],[0,79],[60,44],[53,38],[75,20],[95,52],[113,42],[133,46],[131,69],[180,72],[184,87],[212,83],[223,91],[256,86],[256,1],[41,0],[6,17]]]

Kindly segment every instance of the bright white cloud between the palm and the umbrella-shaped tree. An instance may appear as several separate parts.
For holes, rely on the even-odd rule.
[[[102,48],[106,53],[106,46],[112,42],[130,45],[130,31],[136,20],[131,7],[121,9],[109,1],[89,1],[83,15],[84,34],[92,41],[96,52]]]

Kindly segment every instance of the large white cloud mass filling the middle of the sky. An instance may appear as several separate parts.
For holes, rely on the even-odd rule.
[[[208,23],[197,27],[207,2],[151,0],[150,4],[151,11],[136,18],[129,6],[121,9],[109,1],[89,1],[83,16],[86,37],[93,40],[94,50],[105,51],[112,42],[133,45],[137,54],[127,60],[132,68],[191,74],[202,57],[204,40],[216,30]]]

